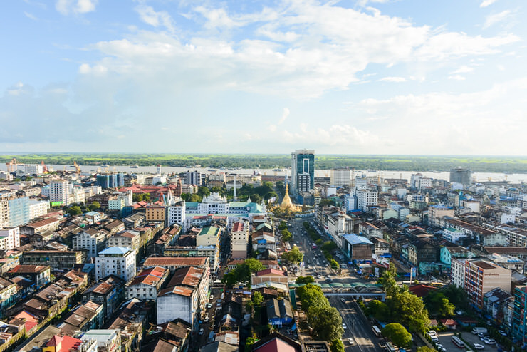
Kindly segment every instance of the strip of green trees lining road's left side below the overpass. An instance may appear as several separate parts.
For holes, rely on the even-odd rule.
[[[322,289],[313,284],[306,284],[298,287],[296,292],[302,301],[302,309],[308,316],[308,323],[313,328],[313,336],[318,341],[338,343],[336,341],[340,340],[344,333],[342,317],[335,307],[330,306]]]

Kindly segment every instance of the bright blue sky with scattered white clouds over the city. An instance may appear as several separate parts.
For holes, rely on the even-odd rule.
[[[523,0],[0,5],[0,152],[526,155]]]

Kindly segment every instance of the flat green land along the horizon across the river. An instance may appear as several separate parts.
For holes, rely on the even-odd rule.
[[[48,165],[140,165],[174,167],[243,167],[272,169],[291,166],[287,154],[120,154],[120,153],[34,153],[26,155],[0,155],[0,162],[16,160]],[[526,157],[447,156],[447,155],[315,155],[318,169],[355,167],[356,170],[448,171],[463,165],[474,172],[527,172]]]

